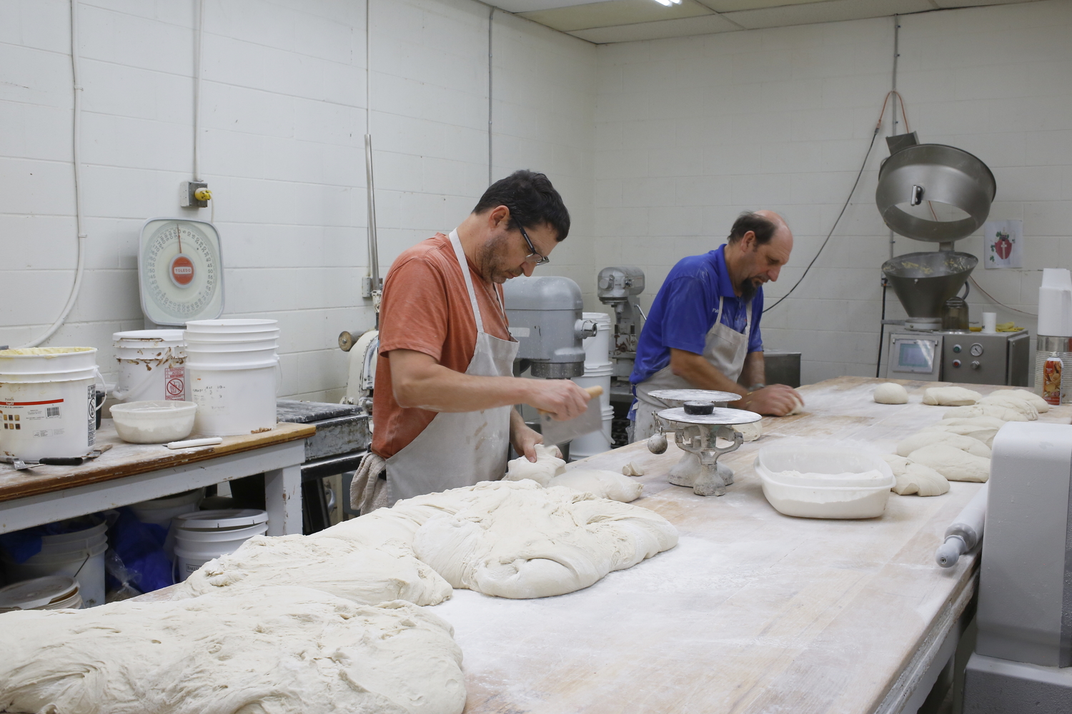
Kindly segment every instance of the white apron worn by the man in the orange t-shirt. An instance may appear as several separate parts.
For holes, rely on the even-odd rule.
[[[465,277],[465,289],[476,319],[476,347],[465,374],[511,377],[518,343],[493,337],[483,331],[480,306],[457,230],[450,231],[450,244]],[[501,478],[506,472],[512,408],[505,406],[483,411],[437,413],[416,439],[387,459],[388,504],[393,505],[400,499],[422,493]]]

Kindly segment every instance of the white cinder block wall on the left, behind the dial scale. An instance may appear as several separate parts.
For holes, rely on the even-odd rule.
[[[196,0],[80,3],[87,262],[49,345],[142,328],[137,233],[177,203],[193,155]],[[364,3],[207,0],[202,174],[223,241],[225,315],[279,319],[281,394],[337,400],[343,329],[371,328]],[[488,184],[488,7],[372,0],[381,271],[449,230]],[[595,47],[497,12],[493,178],[547,172],[574,215],[554,270],[591,272]],[[42,334],[75,267],[70,5],[0,3],[0,344]],[[550,271],[549,271],[550,272]],[[586,283],[591,284],[591,276]],[[587,286],[586,286],[587,287]]]

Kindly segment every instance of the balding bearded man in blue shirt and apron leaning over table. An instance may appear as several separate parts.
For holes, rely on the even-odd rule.
[[[763,383],[759,330],[762,285],[778,279],[792,248],[793,234],[781,216],[746,212],[725,245],[673,267],[637,343],[629,376],[637,397],[629,414],[634,439],[654,434],[654,413],[668,407],[650,396],[655,390],[732,392],[741,398],[730,407],[775,416],[804,404],[794,389]],[[742,375],[747,386],[738,383]]]

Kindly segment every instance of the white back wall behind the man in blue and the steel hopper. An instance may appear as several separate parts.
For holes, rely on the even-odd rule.
[[[998,301],[1034,313],[1041,269],[1072,267],[1072,2],[900,24],[897,88],[911,128],[980,156],[997,179],[991,217],[1024,221],[1024,269],[976,276]],[[815,257],[852,185],[891,86],[893,30],[893,18],[878,18],[600,46],[595,268],[644,267],[647,304],[680,257],[717,247],[741,211],[773,209],[796,242],[765,291],[772,304]],[[803,352],[805,383],[875,375],[890,245],[874,196],[890,130],[888,110],[830,244],[763,318],[768,348]],[[893,247],[937,246],[899,238]],[[956,247],[982,256],[978,234]],[[995,310],[1034,332],[1032,317],[978,291],[969,303],[972,320]],[[904,316],[891,289],[888,317]]]

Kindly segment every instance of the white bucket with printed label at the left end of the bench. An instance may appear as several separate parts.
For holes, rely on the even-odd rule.
[[[92,347],[0,350],[0,452],[39,459],[93,447],[104,382],[95,355]]]

